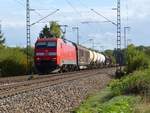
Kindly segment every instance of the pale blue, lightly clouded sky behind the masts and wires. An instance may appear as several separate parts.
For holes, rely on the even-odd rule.
[[[6,45],[26,45],[26,0],[0,0],[0,20]],[[34,45],[42,28],[49,21],[57,21],[60,25],[68,25],[66,38],[76,42],[76,31],[79,27],[80,43],[92,47],[90,39],[94,40],[95,49],[113,49],[116,47],[116,26],[91,11],[103,14],[116,22],[116,11],[112,10],[117,0],[30,0],[31,23],[59,9],[58,12],[42,22],[31,26],[31,41]],[[150,45],[150,1],[121,0],[122,38],[123,27],[130,26],[127,37],[129,43],[135,45]],[[89,21],[90,23],[85,23]],[[122,39],[123,40],[123,39]],[[122,42],[123,47],[123,42]]]

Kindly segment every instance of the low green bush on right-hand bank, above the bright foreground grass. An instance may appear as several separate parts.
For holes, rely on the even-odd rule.
[[[136,71],[110,84],[114,95],[139,94],[150,88],[150,69]]]

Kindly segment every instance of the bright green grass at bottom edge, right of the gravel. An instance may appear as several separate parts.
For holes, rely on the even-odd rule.
[[[111,90],[98,92],[81,104],[73,113],[132,113],[134,103],[139,98],[135,96],[116,96],[113,97]]]

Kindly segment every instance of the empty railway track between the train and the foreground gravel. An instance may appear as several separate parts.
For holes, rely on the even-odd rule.
[[[86,70],[76,73],[65,73],[65,74],[54,74],[53,76],[41,77],[41,79],[35,79],[31,81],[23,81],[17,82],[8,85],[0,86],[0,98],[7,98],[13,95],[17,95],[20,93],[25,93],[28,91],[33,91],[41,88],[45,88],[48,86],[53,86],[57,84],[61,84],[68,81],[74,81],[78,79],[82,79],[85,77],[89,77],[92,75],[98,74],[110,74],[108,73],[110,69],[95,69],[95,70]],[[57,76],[56,76],[57,75]]]

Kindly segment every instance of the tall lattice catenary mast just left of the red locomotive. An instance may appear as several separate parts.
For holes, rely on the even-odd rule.
[[[30,37],[30,1],[26,0],[26,39],[27,39],[27,74],[31,74],[31,56],[30,56],[30,47],[31,47],[31,37]]]

